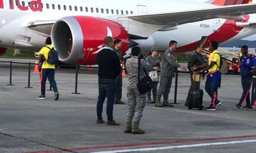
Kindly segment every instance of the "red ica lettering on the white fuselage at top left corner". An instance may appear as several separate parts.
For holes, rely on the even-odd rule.
[[[10,10],[14,10],[14,6],[17,6],[15,3],[18,3],[18,6],[17,8],[21,11],[28,11],[29,8],[31,11],[43,11],[42,8],[40,7],[40,4],[42,3],[42,0],[35,0],[35,1],[31,1],[31,7],[28,7],[28,6],[22,6],[20,4],[20,0],[15,0],[13,2],[13,0],[8,0],[9,3],[12,3],[10,5]],[[36,4],[36,5],[35,5]],[[4,0],[0,0],[0,9],[1,8],[4,8]]]

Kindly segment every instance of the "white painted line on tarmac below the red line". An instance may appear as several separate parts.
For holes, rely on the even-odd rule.
[[[156,147],[156,148],[145,148],[145,149],[127,149],[127,150],[114,150],[114,151],[103,151],[103,152],[92,152],[92,153],[116,153],[116,152],[144,152],[144,151],[154,151],[154,150],[170,150],[170,149],[184,149],[192,147],[207,147],[214,145],[232,145],[237,143],[253,143],[256,140],[244,140],[244,141],[235,141],[235,142],[216,142],[216,143],[200,143],[194,145],[177,145],[170,147]]]

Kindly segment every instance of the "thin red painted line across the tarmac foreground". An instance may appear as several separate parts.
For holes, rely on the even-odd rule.
[[[81,150],[93,150],[93,149],[114,149],[122,147],[137,147],[137,146],[147,146],[147,145],[170,145],[173,143],[195,143],[195,142],[209,142],[209,141],[220,141],[220,140],[234,140],[234,139],[246,139],[246,138],[256,138],[256,135],[248,136],[230,136],[222,138],[204,138],[204,139],[191,139],[191,140],[175,140],[170,142],[149,142],[149,143],[134,143],[134,144],[125,144],[125,145],[105,145],[105,146],[95,146],[95,147],[83,147],[83,148],[73,148],[65,149],[68,151],[81,151]],[[56,153],[63,152],[63,150],[45,150],[45,151],[36,151],[36,152],[23,152],[23,153]]]

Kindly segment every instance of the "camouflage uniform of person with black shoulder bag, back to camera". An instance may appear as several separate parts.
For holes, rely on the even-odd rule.
[[[150,72],[154,70],[148,62],[144,59],[141,59],[141,69],[140,69],[140,78],[145,77],[145,72]],[[146,104],[146,94],[140,94],[138,91],[138,57],[132,56],[131,59],[126,61],[126,69],[129,73],[129,81],[127,85],[127,100],[128,100],[128,109],[127,109],[127,121],[131,122],[132,119],[134,122],[140,122],[142,117],[142,112]]]

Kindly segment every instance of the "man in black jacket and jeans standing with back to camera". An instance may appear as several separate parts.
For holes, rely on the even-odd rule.
[[[105,123],[102,119],[102,109],[105,98],[107,101],[107,126],[118,126],[117,122],[113,120],[113,105],[115,103],[116,95],[116,77],[121,72],[120,60],[118,55],[113,52],[113,38],[107,36],[104,39],[104,47],[96,57],[97,64],[99,65],[99,98],[97,102],[97,124]]]

